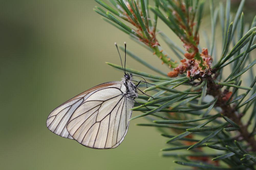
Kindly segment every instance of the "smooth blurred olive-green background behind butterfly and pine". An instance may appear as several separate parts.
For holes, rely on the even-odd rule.
[[[103,21],[93,11],[95,5],[79,0],[1,1],[0,169],[176,169],[172,158],[159,156],[166,138],[154,127],[135,125],[147,122],[144,118],[132,121],[122,144],[109,150],[86,148],[46,127],[49,113],[61,103],[95,85],[121,79],[121,71],[105,64],[120,65],[114,42],[126,41],[135,54],[169,70]],[[202,28],[209,32],[207,11]],[[161,21],[158,27],[182,46]],[[153,73],[130,57],[127,66]]]

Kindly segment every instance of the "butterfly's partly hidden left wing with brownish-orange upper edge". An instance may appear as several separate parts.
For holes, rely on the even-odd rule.
[[[46,121],[47,128],[51,132],[59,136],[73,139],[72,136],[70,136],[70,134],[68,133],[66,126],[74,111],[80,106],[80,104],[92,91],[99,90],[117,83],[120,82],[107,82],[100,84],[98,86],[90,88],[89,90],[84,91],[83,93],[61,104],[49,114]]]

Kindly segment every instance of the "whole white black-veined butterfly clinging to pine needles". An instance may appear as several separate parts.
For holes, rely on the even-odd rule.
[[[117,45],[116,48],[118,50]],[[120,53],[119,56],[121,59]],[[132,73],[127,74],[125,71],[125,63],[123,71],[122,81],[92,87],[54,109],[47,118],[47,128],[89,148],[118,147],[130,124],[130,109],[134,105],[134,99],[138,97],[137,86],[144,82],[140,81],[135,85]]]

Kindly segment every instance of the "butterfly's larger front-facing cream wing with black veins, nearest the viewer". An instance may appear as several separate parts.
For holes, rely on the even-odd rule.
[[[95,91],[72,114],[67,124],[69,134],[90,148],[119,146],[127,133],[133,107],[125,92],[122,82]]]

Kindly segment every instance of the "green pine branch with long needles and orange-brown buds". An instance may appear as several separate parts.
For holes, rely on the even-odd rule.
[[[204,7],[204,1],[200,0],[155,0],[154,6],[143,0],[110,0],[114,7],[101,0],[96,2],[104,9],[96,7],[94,10],[105,21],[130,35],[132,40],[172,69],[165,73],[127,50],[129,56],[160,74],[126,67],[127,72],[150,81],[150,84],[139,86],[150,95],[139,96],[138,103],[132,108],[142,114],[130,120],[145,117],[151,123],[138,125],[161,129],[162,136],[169,138],[167,143],[173,145],[162,151],[189,150],[186,154],[164,153],[163,156],[179,157],[182,161],[175,163],[195,169],[255,169],[256,76],[253,67],[256,60],[250,54],[256,48],[256,16],[250,26],[245,23],[242,10],[246,1],[240,2],[234,17],[231,16],[230,0],[225,1],[225,8],[222,2],[216,7],[215,1]],[[200,46],[208,49],[199,46],[200,25],[205,24],[202,22],[204,8],[210,11],[211,38],[207,38],[210,36],[203,31],[208,44],[200,42]],[[159,20],[182,44],[175,44],[172,38],[159,31]],[[218,27],[220,33],[216,31]],[[223,39],[216,39],[217,34]],[[160,46],[158,38],[163,39],[175,57],[167,55],[168,49]],[[222,43],[221,51],[216,50],[218,43]],[[122,70],[122,66],[107,64]],[[224,70],[226,74],[223,74]],[[242,84],[245,82],[243,77],[248,74],[250,87]],[[244,117],[250,109],[249,118]],[[250,124],[251,129],[248,128]],[[208,153],[205,147],[220,152]],[[223,163],[227,166],[222,166]]]

